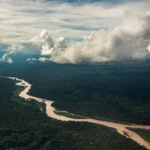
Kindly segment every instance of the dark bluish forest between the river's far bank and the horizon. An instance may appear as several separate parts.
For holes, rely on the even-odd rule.
[[[54,100],[57,109],[136,124],[150,124],[149,68],[150,62],[0,65],[2,75],[27,80],[30,94]]]

